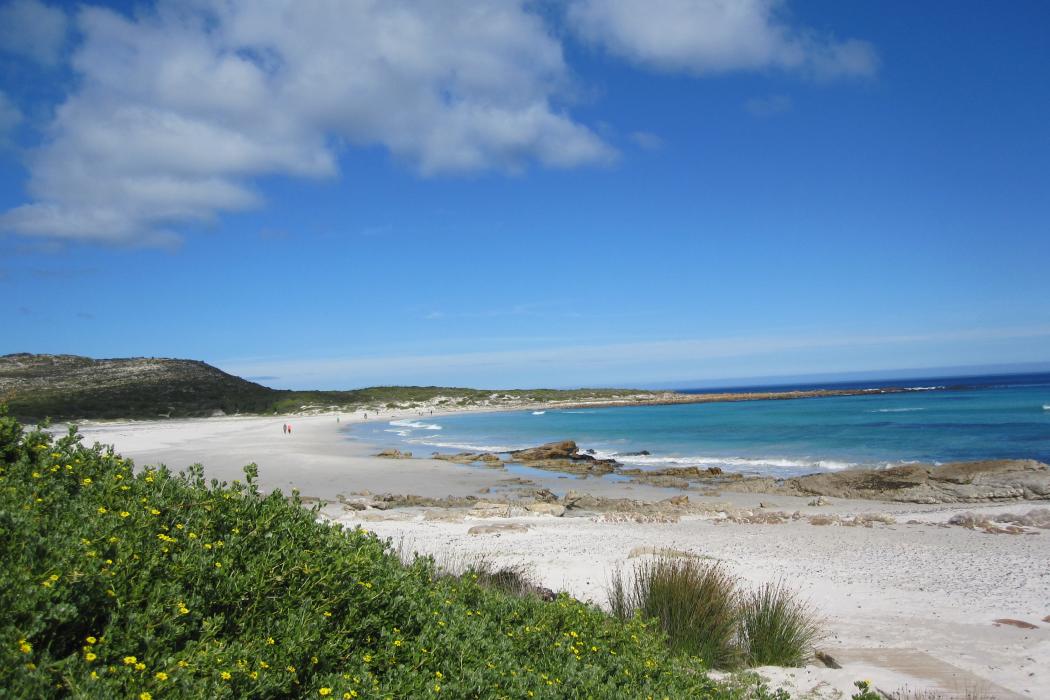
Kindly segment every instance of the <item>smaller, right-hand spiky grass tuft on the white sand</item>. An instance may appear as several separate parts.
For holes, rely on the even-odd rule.
[[[804,665],[819,636],[810,608],[783,584],[766,584],[741,596],[740,644],[749,665]]]

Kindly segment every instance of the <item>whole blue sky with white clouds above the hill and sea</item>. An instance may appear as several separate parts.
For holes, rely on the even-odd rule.
[[[0,354],[285,388],[1050,361],[1048,26],[0,0]]]

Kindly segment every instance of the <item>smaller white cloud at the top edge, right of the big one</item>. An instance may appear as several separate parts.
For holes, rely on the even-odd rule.
[[[867,42],[839,41],[784,21],[782,0],[573,0],[584,40],[658,70],[695,75],[779,68],[818,78],[869,76]]]

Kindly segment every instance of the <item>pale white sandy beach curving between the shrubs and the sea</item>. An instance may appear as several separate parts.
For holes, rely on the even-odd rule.
[[[323,502],[320,512],[333,522],[369,529],[406,551],[521,565],[536,584],[597,604],[605,603],[613,571],[656,550],[717,559],[748,586],[784,581],[823,618],[827,635],[818,648],[843,666],[760,670],[793,697],[813,691],[814,697],[848,698],[859,679],[887,692],[933,688],[945,697],[1050,695],[1050,531],[990,534],[948,524],[964,512],[1025,512],[1045,508],[1046,502],[811,505],[816,502],[800,496],[706,495],[555,471],[530,472],[523,480],[502,468],[377,458],[384,445],[346,436],[344,428],[361,420],[360,413],[340,413],[338,421],[318,415],[85,423],[81,433],[87,443],[113,445],[139,467],[165,464],[180,470],[200,463],[208,478],[230,481],[243,478],[244,465],[254,462],[261,489],[298,489],[308,502]],[[291,434],[282,431],[285,424],[292,426]],[[573,489],[647,503],[685,494],[692,510],[666,518],[586,511],[553,517],[499,504],[487,512],[477,505],[364,505],[382,493],[499,502],[523,489],[560,495]],[[753,516],[777,512],[798,517]],[[814,516],[830,524],[817,525]],[[518,527],[469,532],[494,524]]]

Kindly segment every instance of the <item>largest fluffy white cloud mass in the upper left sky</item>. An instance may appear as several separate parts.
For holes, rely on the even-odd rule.
[[[260,204],[252,178],[329,177],[342,145],[422,175],[615,152],[556,107],[560,43],[525,0],[161,0],[128,19],[85,7],[79,87],[28,161],[22,235],[165,242]]]

